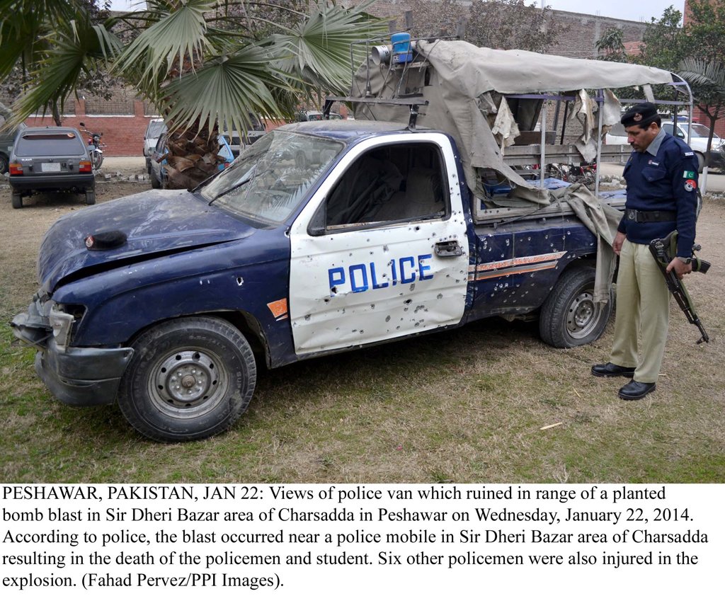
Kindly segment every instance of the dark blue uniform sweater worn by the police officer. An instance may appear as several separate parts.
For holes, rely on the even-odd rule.
[[[650,244],[673,230],[678,232],[677,256],[692,256],[697,218],[697,157],[684,141],[665,133],[653,155],[631,152],[624,166],[627,209],[668,211],[675,221],[637,223],[622,218],[618,231],[636,244]]]

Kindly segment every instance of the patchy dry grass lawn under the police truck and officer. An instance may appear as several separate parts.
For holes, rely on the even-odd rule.
[[[540,342],[535,323],[496,318],[262,370],[252,405],[231,431],[156,444],[117,407],[62,405],[36,377],[33,350],[13,339],[7,321],[36,289],[37,247],[53,218],[46,212],[43,223],[32,207],[12,213],[4,194],[5,482],[725,481],[723,202],[707,200],[698,225],[713,267],[687,278],[711,342],[695,344],[697,328],[673,301],[662,376],[645,400],[618,400],[626,379],[589,373],[608,360],[611,325],[596,344],[560,350]],[[34,226],[31,239],[21,238],[29,233],[24,221]]]

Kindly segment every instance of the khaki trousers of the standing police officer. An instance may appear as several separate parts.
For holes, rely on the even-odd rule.
[[[655,383],[660,373],[670,320],[669,302],[665,278],[649,247],[625,240],[619,255],[610,362],[636,367],[634,380],[640,383]]]

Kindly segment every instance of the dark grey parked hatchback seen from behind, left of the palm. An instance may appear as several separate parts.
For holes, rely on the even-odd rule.
[[[86,141],[75,128],[25,128],[17,134],[10,154],[12,207],[37,192],[67,191],[96,202],[96,178]]]

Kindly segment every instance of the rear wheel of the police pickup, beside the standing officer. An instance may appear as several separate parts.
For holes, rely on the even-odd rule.
[[[553,347],[576,347],[602,336],[612,314],[614,293],[607,304],[594,302],[595,269],[574,267],[561,274],[539,315],[539,334]]]

